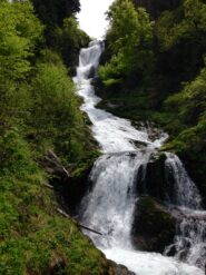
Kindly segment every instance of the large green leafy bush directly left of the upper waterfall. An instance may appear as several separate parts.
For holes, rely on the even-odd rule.
[[[53,148],[66,164],[82,159],[87,163],[87,158],[96,156],[75,91],[59,56],[43,50],[31,82],[27,136],[32,137],[41,151]]]

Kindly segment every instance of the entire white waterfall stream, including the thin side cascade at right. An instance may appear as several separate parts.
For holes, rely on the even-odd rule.
[[[151,139],[148,128],[136,129],[129,120],[96,108],[101,99],[95,95],[91,81],[102,50],[100,41],[92,41],[87,49],[81,49],[73,78],[78,96],[84,98],[81,110],[91,120],[92,135],[102,151],[91,170],[92,188],[81,202],[79,218],[104,236],[86,234],[107,258],[127,266],[137,275],[204,275],[206,220],[199,216],[206,217],[206,212],[202,209],[197,187],[174,154],[166,154],[168,180],[170,175],[175,180],[175,195],[166,196],[167,204],[184,213],[174,243],[165,248],[164,255],[137,251],[133,246],[130,235],[138,199],[134,184],[139,168],[147,166],[151,154],[161,147],[168,135],[159,131]],[[173,257],[167,256],[174,249]]]

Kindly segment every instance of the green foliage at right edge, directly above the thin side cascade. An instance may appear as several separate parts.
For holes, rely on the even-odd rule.
[[[204,189],[206,198],[203,169],[206,165],[206,69],[202,69],[199,76],[186,84],[180,92],[168,97],[165,108],[169,112],[176,111],[178,122],[182,125],[178,136],[166,146],[166,149],[174,149],[185,159],[199,188]],[[176,129],[170,125],[169,131],[174,130]]]

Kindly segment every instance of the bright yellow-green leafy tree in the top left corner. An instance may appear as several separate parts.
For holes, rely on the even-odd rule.
[[[32,6],[23,2],[0,3],[0,81],[22,79],[31,69],[29,57],[41,39],[42,26]]]

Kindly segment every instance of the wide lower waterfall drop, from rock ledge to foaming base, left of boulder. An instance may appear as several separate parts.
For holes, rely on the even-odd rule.
[[[131,247],[130,225],[136,199],[134,181],[138,168],[148,158],[149,154],[138,151],[104,155],[96,161],[90,175],[96,185],[82,200],[81,219],[107,236],[94,236],[98,246]]]

